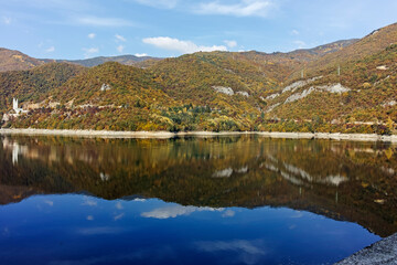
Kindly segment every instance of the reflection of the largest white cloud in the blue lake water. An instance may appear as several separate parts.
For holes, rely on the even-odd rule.
[[[153,219],[169,219],[176,218],[181,215],[190,215],[193,212],[203,212],[203,211],[223,211],[224,209],[215,209],[215,208],[197,208],[197,206],[182,206],[182,205],[173,205],[173,206],[164,206],[154,209],[151,212],[143,212],[141,214],[142,218],[153,218]]]

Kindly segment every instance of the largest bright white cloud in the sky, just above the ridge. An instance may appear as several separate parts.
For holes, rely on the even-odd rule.
[[[191,41],[180,41],[169,36],[146,38],[142,41],[143,43],[151,44],[160,49],[178,51],[180,53],[227,51],[227,47],[224,45],[202,46]]]

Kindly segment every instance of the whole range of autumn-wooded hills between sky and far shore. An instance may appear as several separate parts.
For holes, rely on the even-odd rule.
[[[397,24],[289,53],[37,60],[0,50],[3,127],[394,134]],[[28,114],[18,117],[12,98]]]

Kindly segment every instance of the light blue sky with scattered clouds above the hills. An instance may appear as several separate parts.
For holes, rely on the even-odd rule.
[[[397,22],[396,0],[0,0],[0,46],[34,57],[287,52]]]

